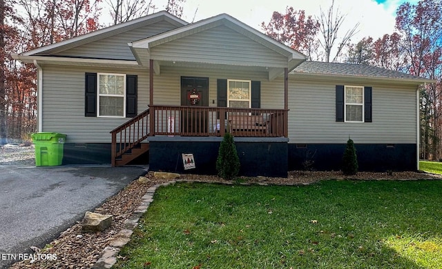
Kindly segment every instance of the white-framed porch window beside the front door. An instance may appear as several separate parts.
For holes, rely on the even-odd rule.
[[[229,108],[251,107],[251,81],[227,80],[227,106]]]

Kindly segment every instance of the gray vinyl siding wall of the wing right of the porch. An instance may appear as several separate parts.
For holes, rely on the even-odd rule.
[[[372,86],[371,123],[336,122],[336,83],[290,79],[289,143],[416,143],[415,86],[359,85]]]

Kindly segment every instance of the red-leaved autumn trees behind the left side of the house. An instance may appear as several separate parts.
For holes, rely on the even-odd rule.
[[[185,1],[169,0],[164,8],[180,16]],[[112,8],[118,23],[155,12],[153,0],[0,0],[0,144],[37,131],[37,68],[11,53],[108,26],[100,16]]]

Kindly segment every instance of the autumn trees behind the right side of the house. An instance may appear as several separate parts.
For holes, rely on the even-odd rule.
[[[328,9],[321,8],[319,17],[294,8],[273,12],[269,23],[262,23],[262,30],[311,60],[367,64],[434,79],[436,83],[419,89],[420,157],[442,159],[442,2],[402,3],[396,10],[395,32],[377,39],[363,37],[352,42],[347,37],[356,29],[340,29],[343,19],[345,14],[332,1]],[[334,57],[329,55],[332,47],[337,51]]]

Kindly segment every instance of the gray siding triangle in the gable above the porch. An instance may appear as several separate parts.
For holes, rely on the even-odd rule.
[[[166,61],[239,66],[287,66],[286,57],[226,26],[217,26],[156,46],[151,49],[151,57]]]

